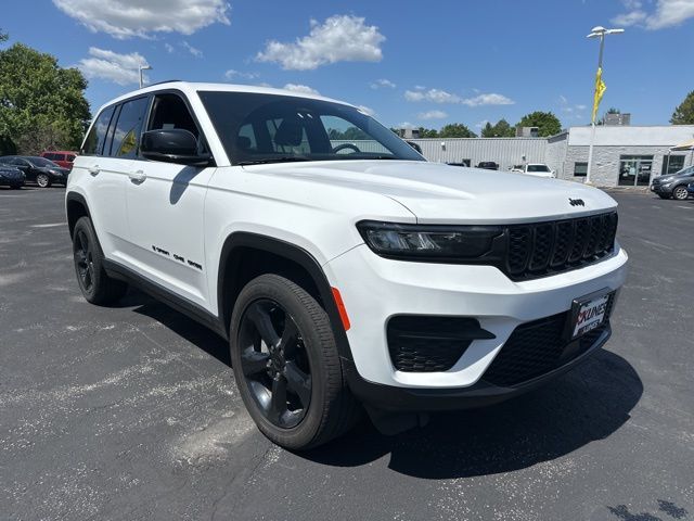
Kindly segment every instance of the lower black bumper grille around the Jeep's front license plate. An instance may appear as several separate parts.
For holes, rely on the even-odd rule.
[[[605,321],[574,342],[565,340],[570,312],[518,326],[485,372],[483,380],[504,387],[514,386],[550,372],[590,350],[609,327],[614,305],[611,296]]]

